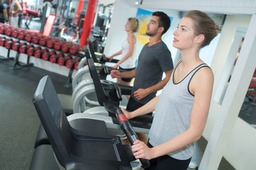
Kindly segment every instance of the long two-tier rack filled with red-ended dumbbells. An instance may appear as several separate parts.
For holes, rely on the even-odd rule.
[[[14,68],[16,66],[31,67],[34,65],[53,72],[56,72],[56,69],[51,68],[49,70],[49,66],[46,65],[68,68],[68,82],[65,86],[70,86],[73,71],[74,69],[78,70],[78,64],[84,57],[80,45],[65,42],[58,38],[46,37],[31,30],[14,28],[3,23],[0,23],[0,46],[8,50],[7,56],[1,57],[0,61],[14,60],[15,58]],[[16,57],[10,57],[11,51],[16,52]],[[6,52],[2,52],[2,54],[6,54]],[[21,64],[21,62],[24,62],[22,61],[24,57],[26,57],[26,64]],[[61,70],[63,69],[60,69],[60,72],[57,73],[66,76],[67,74],[61,72]]]

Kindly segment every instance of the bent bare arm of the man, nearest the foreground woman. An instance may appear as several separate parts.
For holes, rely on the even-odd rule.
[[[171,73],[173,72],[174,69],[171,69],[169,71],[164,72],[166,74],[166,77],[159,81],[157,84],[154,86],[150,86],[146,89],[138,89],[137,91],[134,91],[134,97],[137,100],[141,100],[142,98],[148,96],[149,94],[152,94],[156,91],[159,91],[164,88],[164,86],[167,84],[171,77]]]

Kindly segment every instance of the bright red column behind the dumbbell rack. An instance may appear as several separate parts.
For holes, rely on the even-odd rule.
[[[97,0],[89,0],[87,5],[87,10],[85,14],[85,21],[82,26],[82,36],[80,38],[80,45],[87,45],[87,38],[90,36],[90,31],[92,28],[92,23],[95,17],[95,8]]]

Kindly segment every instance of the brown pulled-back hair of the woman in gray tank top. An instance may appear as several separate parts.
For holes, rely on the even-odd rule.
[[[193,28],[195,35],[203,34],[205,39],[203,40],[201,47],[205,47],[210,44],[210,41],[218,35],[219,26],[216,24],[208,14],[202,11],[188,11],[184,17],[191,18],[193,20]]]

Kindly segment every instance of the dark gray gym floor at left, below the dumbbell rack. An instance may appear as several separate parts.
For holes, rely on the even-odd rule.
[[[32,98],[39,80],[50,75],[58,94],[72,94],[68,78],[36,67],[14,69],[0,61],[0,169],[29,169],[40,120]]]

